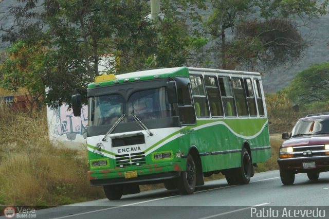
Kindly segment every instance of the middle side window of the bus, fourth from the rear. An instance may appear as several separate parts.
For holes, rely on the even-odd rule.
[[[228,77],[218,78],[223,99],[225,116],[236,116],[231,80]]]

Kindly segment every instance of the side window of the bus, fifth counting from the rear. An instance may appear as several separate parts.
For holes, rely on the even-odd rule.
[[[220,87],[216,77],[205,76],[211,116],[224,116]]]

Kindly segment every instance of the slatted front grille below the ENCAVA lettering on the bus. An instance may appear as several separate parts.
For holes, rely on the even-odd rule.
[[[129,166],[141,166],[146,164],[144,152],[120,154],[115,156],[116,167],[123,168]]]

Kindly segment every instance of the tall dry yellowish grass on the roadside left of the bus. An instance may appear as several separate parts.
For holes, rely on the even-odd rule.
[[[45,110],[29,117],[0,103],[0,145],[0,205],[57,206],[104,197],[86,178],[86,152],[49,141]]]

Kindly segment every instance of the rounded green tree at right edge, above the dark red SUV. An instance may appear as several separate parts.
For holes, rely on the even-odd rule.
[[[300,103],[329,100],[329,62],[315,64],[301,72],[286,88],[288,97]]]

